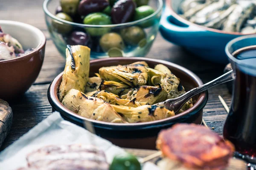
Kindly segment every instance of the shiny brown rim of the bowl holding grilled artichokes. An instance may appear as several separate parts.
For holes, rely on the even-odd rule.
[[[113,58],[95,59],[95,60],[91,60],[90,63],[105,62],[107,60],[126,60],[126,59],[127,60],[133,59],[135,61],[137,60],[137,61],[146,61],[146,62],[147,61],[151,61],[151,62],[157,62],[159,64],[173,66],[173,67],[178,68],[179,70],[183,71],[184,74],[189,75],[189,77],[191,77],[199,86],[204,84],[198,76],[196,76],[194,73],[192,73],[192,71],[189,71],[188,69],[183,68],[180,65],[174,64],[172,62],[167,62],[167,61],[164,61],[164,60],[160,60],[160,59],[150,59],[150,58],[141,58],[141,57],[129,57],[129,58],[115,57],[115,59],[113,59]],[[56,108],[58,108],[58,110],[63,111],[64,113],[67,113],[67,114],[69,114],[71,116],[76,117],[76,119],[81,119],[81,120],[84,120],[84,121],[93,122],[94,124],[97,124],[97,125],[105,125],[105,126],[113,126],[114,125],[114,126],[118,126],[118,127],[141,127],[141,126],[144,126],[144,129],[145,128],[150,128],[150,127],[148,127],[148,125],[151,125],[151,126],[152,125],[161,125],[160,124],[161,122],[172,121],[172,120],[180,118],[180,117],[182,117],[184,115],[187,115],[189,113],[192,113],[192,112],[195,112],[195,111],[198,112],[202,108],[204,108],[204,106],[206,105],[207,100],[208,100],[208,92],[206,91],[204,93],[201,93],[199,95],[199,97],[198,97],[197,102],[195,102],[195,104],[192,106],[192,108],[189,108],[188,110],[186,110],[186,111],[184,111],[184,112],[182,112],[180,114],[177,114],[175,116],[172,116],[172,117],[169,117],[169,118],[166,118],[166,119],[161,119],[161,120],[156,120],[156,121],[151,121],[151,122],[128,123],[128,124],[125,124],[125,123],[102,122],[102,121],[87,119],[87,118],[84,118],[82,116],[77,115],[76,113],[74,113],[74,112],[68,110],[67,108],[65,108],[61,104],[61,102],[58,100],[58,97],[55,97],[55,96],[57,96],[57,94],[55,94],[54,88],[56,86],[57,81],[59,79],[61,79],[62,74],[63,74],[63,72],[61,74],[59,74],[57,77],[55,77],[55,79],[52,81],[52,83],[50,84],[49,89],[48,89],[48,99],[49,99],[49,102],[52,105],[52,107],[54,109],[56,107]],[[57,111],[57,109],[55,109],[55,110]],[[147,127],[145,127],[145,125]]]

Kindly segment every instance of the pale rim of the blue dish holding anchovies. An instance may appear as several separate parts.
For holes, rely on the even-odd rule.
[[[207,31],[212,31],[212,32],[216,32],[216,33],[220,33],[220,34],[232,34],[232,35],[252,35],[252,34],[242,34],[241,32],[232,32],[232,31],[223,31],[223,30],[218,30],[218,29],[214,29],[214,28],[208,28],[208,27],[205,27],[205,26],[200,26],[198,24],[195,24],[195,23],[191,23],[189,22],[188,20],[184,19],[183,17],[180,17],[179,14],[177,14],[174,9],[172,8],[172,0],[166,0],[166,6],[169,8],[169,10],[171,11],[172,15],[181,20],[182,23],[185,23],[186,25],[190,26],[198,26],[200,28],[203,28],[204,30],[207,30]]]

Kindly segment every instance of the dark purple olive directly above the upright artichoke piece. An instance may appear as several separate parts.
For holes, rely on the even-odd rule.
[[[91,38],[82,31],[73,31],[67,38],[68,45],[85,45],[91,48]]]

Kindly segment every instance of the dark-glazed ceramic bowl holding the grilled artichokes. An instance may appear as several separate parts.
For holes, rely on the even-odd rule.
[[[173,74],[180,78],[186,91],[204,84],[199,77],[186,68],[159,59],[141,57],[118,57],[92,60],[90,61],[90,76],[94,76],[94,73],[98,73],[99,68],[104,66],[118,64],[126,65],[137,61],[145,61],[151,68],[154,68],[154,65],[157,64],[166,65],[173,72]],[[69,111],[61,104],[57,95],[59,86],[61,84],[62,75],[63,73],[59,74],[52,81],[48,89],[48,99],[52,105],[52,108],[55,111],[60,112],[64,119],[67,119],[77,125],[83,126],[84,121],[92,122],[97,135],[108,139],[113,144],[120,147],[155,149],[157,134],[161,129],[171,127],[177,122],[201,124],[203,108],[208,99],[207,92],[197,95],[193,98],[194,106],[192,108],[189,108],[187,111],[167,119],[130,124],[100,122],[81,117],[76,113]]]

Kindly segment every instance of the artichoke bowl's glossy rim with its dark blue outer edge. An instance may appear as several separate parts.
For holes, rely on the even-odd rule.
[[[148,61],[148,62],[156,62],[158,64],[168,65],[170,67],[177,68],[178,70],[182,71],[184,74],[187,74],[198,84],[198,86],[201,86],[204,84],[201,81],[201,79],[198,76],[196,76],[192,71],[189,71],[188,69],[180,65],[174,64],[172,62],[160,60],[160,59],[141,58],[141,57],[129,57],[129,58],[115,57],[115,58],[95,59],[95,60],[91,60],[90,63],[105,62],[107,60],[113,60],[113,59],[116,61],[117,60],[129,61],[130,59],[132,59],[132,61],[145,61],[145,62]],[[47,91],[48,100],[49,100],[49,103],[52,105],[52,108],[55,111],[59,111],[64,116],[75,120],[76,122],[83,123],[84,121],[88,121],[88,122],[92,122],[95,127],[104,128],[104,129],[136,130],[136,129],[150,129],[155,127],[162,127],[163,125],[166,125],[168,123],[173,123],[175,119],[178,119],[182,116],[198,113],[204,108],[208,100],[208,91],[205,91],[198,96],[198,100],[197,102],[195,102],[192,108],[189,108],[188,110],[178,115],[175,115],[166,119],[152,121],[152,122],[129,123],[129,124],[102,122],[102,121],[87,119],[82,116],[79,116],[76,113],[73,113],[72,111],[68,110],[61,104],[61,102],[58,100],[57,93],[55,93],[55,88],[56,87],[58,88],[59,85],[57,84],[57,82],[61,79],[62,75],[63,75],[63,72],[59,74],[57,77],[55,77],[55,79],[53,79]]]

